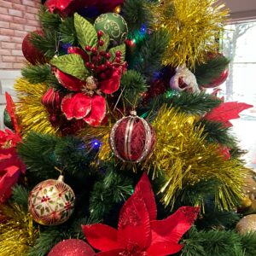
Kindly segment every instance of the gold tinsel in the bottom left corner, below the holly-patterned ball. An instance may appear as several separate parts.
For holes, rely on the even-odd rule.
[[[22,207],[0,205],[0,255],[24,256],[38,238],[32,217]]]

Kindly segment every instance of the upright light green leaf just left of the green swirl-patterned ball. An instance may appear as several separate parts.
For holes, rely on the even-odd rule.
[[[82,16],[75,14],[74,26],[79,38],[79,44],[83,49],[86,45],[96,47],[98,42],[97,32],[88,20],[85,20]]]

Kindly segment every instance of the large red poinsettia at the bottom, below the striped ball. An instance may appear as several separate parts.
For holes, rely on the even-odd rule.
[[[120,211],[118,230],[105,224],[83,225],[87,241],[101,256],[165,256],[182,249],[178,244],[199,212],[180,207],[164,220],[156,220],[154,193],[144,173],[135,192]]]

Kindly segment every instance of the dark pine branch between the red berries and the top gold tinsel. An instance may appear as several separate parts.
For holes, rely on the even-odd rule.
[[[142,73],[148,80],[154,78],[154,73],[160,70],[161,60],[169,41],[170,34],[164,29],[147,36],[131,56],[131,69]]]

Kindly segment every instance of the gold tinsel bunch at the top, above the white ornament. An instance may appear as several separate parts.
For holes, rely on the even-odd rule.
[[[204,62],[207,52],[218,51],[218,38],[224,30],[229,9],[217,0],[164,0],[153,8],[155,29],[165,27],[171,41],[164,65],[178,67]]]

